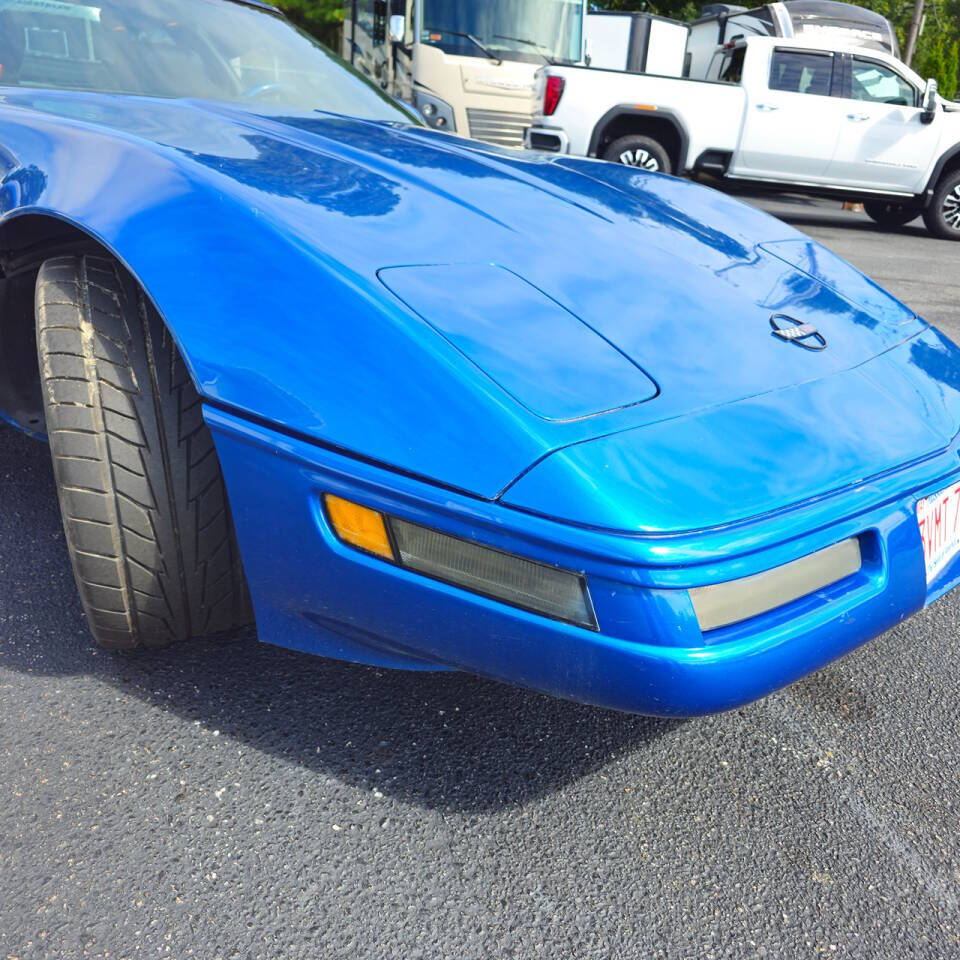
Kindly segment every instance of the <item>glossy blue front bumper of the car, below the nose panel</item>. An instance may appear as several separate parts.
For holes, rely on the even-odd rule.
[[[791,683],[899,623],[960,578],[955,561],[929,589],[926,583],[915,505],[946,482],[931,481],[929,469],[922,489],[911,488],[916,477],[905,472],[896,496],[855,515],[849,499],[831,519],[820,504],[811,533],[797,533],[796,517],[733,531],[728,546],[750,544],[738,552],[723,548],[724,534],[716,531],[674,543],[557,523],[220,410],[205,413],[259,635],[323,656],[462,669],[604,707],[692,716]],[[956,473],[955,451],[942,462]],[[583,572],[600,630],[527,613],[352,550],[330,530],[323,493]],[[744,623],[700,631],[687,588],[747,576],[848,537],[861,541],[859,573]]]

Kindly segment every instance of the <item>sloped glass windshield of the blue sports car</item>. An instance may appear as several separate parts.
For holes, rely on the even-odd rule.
[[[413,120],[287,20],[228,0],[0,0],[0,86]]]

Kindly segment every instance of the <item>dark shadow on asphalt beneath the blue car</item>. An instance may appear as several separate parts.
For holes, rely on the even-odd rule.
[[[4,670],[78,678],[77,695],[81,683],[105,683],[111,697],[138,698],[291,764],[457,811],[551,794],[679,725],[467,674],[325,660],[260,644],[252,630],[159,652],[99,650],[73,583],[47,448],[0,426]],[[67,709],[71,687],[61,684]]]

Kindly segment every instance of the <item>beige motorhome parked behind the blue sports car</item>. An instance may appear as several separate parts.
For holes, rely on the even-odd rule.
[[[586,4],[346,0],[343,56],[431,127],[521,147],[537,70],[583,60]]]

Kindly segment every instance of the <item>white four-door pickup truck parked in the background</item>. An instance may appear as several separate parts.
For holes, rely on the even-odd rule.
[[[535,98],[532,149],[862,201],[960,240],[960,105],[886,53],[749,37],[705,80],[551,65]]]

